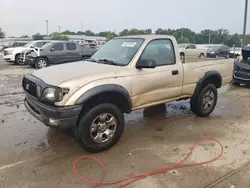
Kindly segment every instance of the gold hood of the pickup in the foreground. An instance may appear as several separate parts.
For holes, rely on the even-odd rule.
[[[124,67],[100,64],[88,61],[78,61],[74,63],[66,63],[56,65],[34,71],[32,75],[43,80],[49,85],[58,86],[63,82],[83,78],[83,77],[108,77],[108,75],[115,75],[115,71],[124,70]]]

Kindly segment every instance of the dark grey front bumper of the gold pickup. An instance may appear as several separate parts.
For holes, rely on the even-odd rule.
[[[24,105],[31,115],[50,127],[74,128],[81,106],[55,107],[42,104],[26,93]]]

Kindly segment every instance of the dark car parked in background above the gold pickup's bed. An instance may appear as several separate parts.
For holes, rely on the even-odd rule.
[[[230,54],[230,48],[226,45],[212,46],[207,51],[208,58],[219,58],[219,57],[229,58],[229,54]]]

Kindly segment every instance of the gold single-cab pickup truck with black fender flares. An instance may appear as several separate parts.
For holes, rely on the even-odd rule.
[[[191,99],[208,116],[217,89],[232,80],[233,61],[181,63],[173,36],[118,37],[84,61],[40,69],[23,78],[27,110],[47,126],[73,128],[82,147],[100,152],[122,135],[124,113]]]

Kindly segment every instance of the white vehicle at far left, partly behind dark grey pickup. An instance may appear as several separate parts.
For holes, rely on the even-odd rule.
[[[20,61],[20,55],[22,52],[29,50],[30,48],[41,48],[48,42],[49,40],[37,40],[31,41],[22,47],[6,48],[4,49],[3,59],[7,62],[13,62],[15,64],[22,65],[23,62]]]

